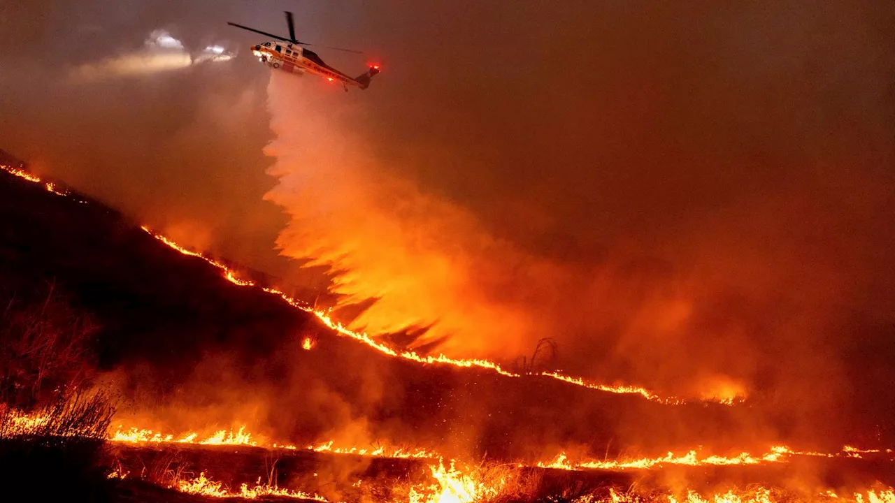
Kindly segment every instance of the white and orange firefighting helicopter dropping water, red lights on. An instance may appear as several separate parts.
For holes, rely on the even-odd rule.
[[[343,72],[339,72],[332,66],[323,63],[323,60],[320,59],[320,56],[317,55],[317,53],[311,51],[306,47],[303,47],[312,46],[314,44],[300,42],[298,39],[295,38],[295,27],[292,19],[292,13],[288,11],[286,11],[286,24],[289,26],[289,38],[279,37],[277,35],[273,35],[261,30],[255,30],[254,28],[249,28],[248,26],[243,26],[242,24],[236,24],[235,22],[227,22],[227,24],[229,24],[230,26],[235,26],[236,28],[254,31],[255,33],[260,33],[261,35],[275,38],[274,40],[271,40],[269,42],[264,42],[263,44],[258,44],[251,47],[251,54],[257,56],[261,63],[267,64],[269,67],[275,70],[282,70],[287,73],[295,73],[298,75],[303,75],[304,72],[315,73],[327,79],[328,81],[342,82],[342,86],[345,88],[345,91],[348,90],[349,85],[357,86],[362,90],[367,89],[368,87],[370,87],[370,80],[373,78],[374,75],[379,73],[379,64],[371,64],[370,70],[358,77],[352,78]],[[360,51],[353,51],[351,49],[343,49],[339,47],[320,47],[326,47],[328,49],[335,49],[337,51],[345,51],[355,54],[363,54]]]

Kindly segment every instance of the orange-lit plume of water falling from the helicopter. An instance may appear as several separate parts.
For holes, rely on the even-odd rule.
[[[455,354],[487,354],[501,334],[507,353],[523,349],[532,320],[511,304],[505,275],[525,267],[524,254],[468,210],[379,169],[350,131],[361,109],[328,113],[335,99],[309,99],[310,87],[277,73],[268,87],[279,184],[266,198],[291,217],[282,252],[328,268],[342,303],[376,299],[354,328],[429,328],[418,343],[442,340]]]

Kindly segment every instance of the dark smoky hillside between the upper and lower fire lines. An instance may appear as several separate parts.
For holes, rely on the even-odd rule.
[[[83,195],[59,196],[2,173],[0,209],[7,283],[52,282],[90,313],[100,367],[115,371],[131,412],[155,428],[249,422],[293,441],[350,430],[354,442],[445,448],[447,440],[458,451],[518,457],[566,444],[611,452],[658,439],[702,443],[698,437],[733,421],[720,405],[661,405],[384,356],[258,287],[234,286]],[[301,348],[306,337],[316,341],[312,351]],[[706,425],[696,436],[674,426],[695,422]]]

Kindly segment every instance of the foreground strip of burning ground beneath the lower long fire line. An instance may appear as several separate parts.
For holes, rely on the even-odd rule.
[[[672,464],[613,472],[557,470],[494,461],[468,464],[445,459],[372,458],[353,465],[346,459],[349,456],[321,456],[325,453],[306,450],[277,454],[260,448],[234,450],[195,444],[122,444],[122,448],[143,452],[171,449],[169,453],[179,453],[168,455],[179,456],[174,462],[163,461],[167,465],[161,472],[166,474],[157,479],[158,483],[219,498],[251,498],[247,494],[254,490],[260,495],[284,496],[286,491],[293,495],[284,496],[287,498],[310,495],[346,503],[895,503],[888,485],[868,482],[874,475],[865,473],[865,466],[860,464],[869,462],[848,456],[802,458],[804,465],[796,472],[788,470],[787,464]],[[285,484],[277,483],[267,457],[262,462],[262,456],[271,454],[281,456],[273,465],[286,474],[282,479]],[[257,478],[262,465],[268,466],[268,482]],[[354,468],[346,471],[345,466]],[[801,473],[805,467],[818,473],[833,469],[841,474],[852,470],[861,475],[844,487],[837,487],[835,482],[807,483],[793,478],[792,473]],[[891,471],[891,461],[881,467]],[[891,483],[884,474],[882,480]]]

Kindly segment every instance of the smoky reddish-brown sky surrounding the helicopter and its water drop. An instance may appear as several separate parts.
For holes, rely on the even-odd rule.
[[[553,308],[569,368],[797,382],[780,400],[823,382],[862,406],[872,394],[853,388],[895,374],[891,2],[5,3],[0,147],[282,273],[287,217],[261,199],[276,183],[268,71],[226,21],[285,32],[286,9],[300,38],[368,51],[320,49],[331,64],[383,65],[363,92],[308,77],[301,90],[344,99],[332,114],[353,111],[345,132],[379,166],[582,271],[551,297],[578,301]],[[66,78],[159,29],[237,56]]]

